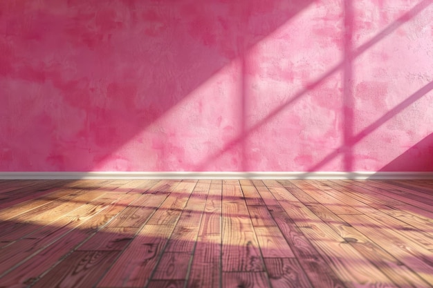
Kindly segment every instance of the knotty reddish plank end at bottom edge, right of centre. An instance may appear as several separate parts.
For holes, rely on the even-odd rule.
[[[264,260],[273,287],[313,288],[295,258],[265,258]]]

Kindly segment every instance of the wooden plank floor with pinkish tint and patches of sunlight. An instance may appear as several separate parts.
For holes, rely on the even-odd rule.
[[[3,180],[0,247],[0,287],[433,287],[433,180]]]

